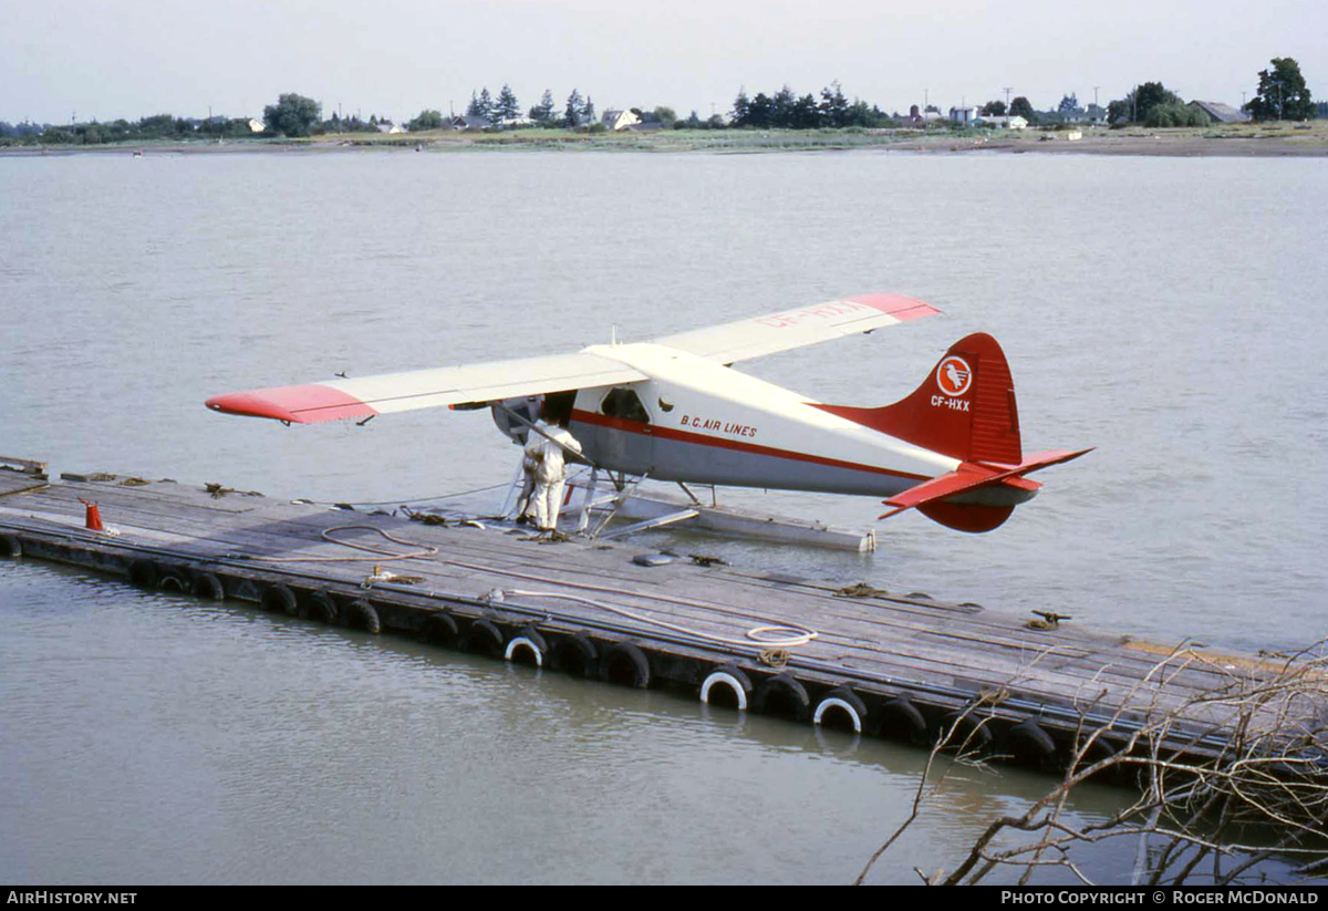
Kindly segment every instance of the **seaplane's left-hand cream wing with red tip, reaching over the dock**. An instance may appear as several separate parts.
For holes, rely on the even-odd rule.
[[[317,424],[644,378],[625,364],[580,352],[231,392],[206,404],[227,414]]]

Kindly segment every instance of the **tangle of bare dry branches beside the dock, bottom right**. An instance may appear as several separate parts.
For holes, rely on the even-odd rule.
[[[1218,672],[1219,681],[1177,700],[1167,683],[1197,663]],[[1090,883],[1085,853],[1120,838],[1137,839],[1135,884],[1236,883],[1275,855],[1296,858],[1301,875],[1328,865],[1324,643],[1280,664],[1242,668],[1214,665],[1193,648],[1178,647],[1131,687],[1105,722],[1100,706],[1106,691],[1096,680],[1085,691],[1092,695],[1076,700],[1078,722],[1060,780],[1024,813],[989,821],[952,872],[918,871],[923,882],[973,884],[996,870],[1019,867],[1019,882],[1028,883],[1052,867]],[[976,753],[977,732],[992,717],[989,705],[976,700],[940,732],[907,818],[871,855],[858,883],[944,787],[946,772],[935,774],[944,753],[957,753],[947,770],[956,761],[984,762]],[[1074,789],[1105,776],[1130,782],[1134,799],[1106,818],[1068,822]]]

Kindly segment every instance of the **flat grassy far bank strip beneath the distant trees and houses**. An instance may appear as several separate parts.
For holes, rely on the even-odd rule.
[[[1078,133],[1080,138],[1072,138]],[[1303,158],[1328,155],[1328,121],[1308,125],[1260,124],[1207,129],[1133,127],[1125,130],[931,131],[915,130],[660,130],[657,133],[511,133],[336,134],[309,139],[202,139],[97,146],[3,146],[0,158],[40,155],[162,154],[311,154],[332,151],[618,151],[618,153],[788,153],[788,151],[904,151],[904,153],[1044,153],[1085,155],[1146,155],[1166,158]]]

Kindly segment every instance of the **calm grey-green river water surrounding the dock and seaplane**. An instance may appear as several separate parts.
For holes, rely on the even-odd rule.
[[[988,331],[1025,450],[1097,452],[991,535],[906,515],[874,556],[712,551],[1165,641],[1328,632],[1320,162],[122,154],[3,158],[0,201],[0,454],[327,501],[469,490],[513,470],[482,413],[284,429],[202,401],[902,291],[946,316],[746,369],[884,404]],[[845,882],[924,760],[36,563],[0,564],[0,879]],[[874,878],[954,866],[1045,785],[964,773]]]

